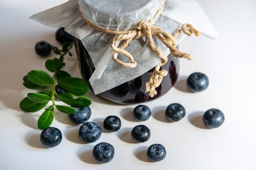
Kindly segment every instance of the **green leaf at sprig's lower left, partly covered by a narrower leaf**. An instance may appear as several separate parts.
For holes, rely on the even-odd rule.
[[[47,103],[48,102],[36,103],[29,100],[28,97],[26,97],[19,103],[19,108],[24,112],[36,112],[44,108],[47,105]]]

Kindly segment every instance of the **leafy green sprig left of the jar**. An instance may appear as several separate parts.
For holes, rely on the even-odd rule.
[[[73,107],[86,107],[91,104],[91,100],[83,96],[88,92],[88,83],[81,78],[71,77],[69,73],[62,70],[65,66],[64,55],[69,54],[69,56],[72,56],[70,52],[72,46],[73,43],[67,42],[62,45],[61,50],[56,46],[52,46],[52,51],[60,55],[59,58],[46,60],[45,62],[46,69],[53,73],[52,77],[42,70],[29,71],[28,74],[23,77],[23,85],[29,89],[40,89],[42,87],[52,86],[51,90],[28,93],[27,97],[19,103],[21,110],[25,112],[36,112],[45,108],[47,103],[52,101],[52,104],[48,108],[45,108],[45,111],[38,119],[39,129],[45,129],[52,124],[55,113],[54,108],[62,113],[73,114],[76,111]],[[67,93],[57,94],[55,91],[56,83]],[[56,105],[55,96],[69,106]],[[75,96],[78,97],[75,98]]]

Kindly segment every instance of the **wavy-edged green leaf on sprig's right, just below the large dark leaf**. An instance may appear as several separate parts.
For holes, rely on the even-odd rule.
[[[64,103],[75,106],[75,107],[87,107],[90,106],[92,101],[84,96],[79,96],[78,98],[74,98],[74,95],[71,93],[63,93],[63,94],[56,94],[58,99],[63,101]]]

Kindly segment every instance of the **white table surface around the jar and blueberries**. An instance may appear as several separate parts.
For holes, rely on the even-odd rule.
[[[22,77],[32,69],[43,69],[46,59],[34,51],[37,41],[57,44],[56,29],[47,28],[28,17],[65,0],[1,0],[0,1],[0,170],[255,170],[256,169],[256,1],[198,0],[216,28],[219,38],[187,38],[180,44],[182,51],[192,53],[194,61],[181,60],[180,78],[176,87],[158,100],[147,103],[152,117],[135,122],[134,106],[123,106],[97,98],[92,99],[90,121],[102,121],[108,115],[121,118],[122,128],[116,133],[102,133],[95,143],[83,144],[78,126],[68,117],[56,113],[52,126],[62,131],[59,146],[44,148],[39,140],[37,119],[42,111],[24,113],[19,102],[31,90],[22,85]],[[75,54],[74,49],[72,50]],[[80,76],[76,57],[66,58],[66,69]],[[209,76],[210,85],[200,93],[187,90],[185,79],[201,71]],[[33,91],[33,90],[32,90]],[[186,108],[180,122],[171,123],[164,117],[168,104],[178,102]],[[219,108],[225,122],[218,129],[206,129],[201,115],[209,108]],[[145,124],[151,138],[135,144],[130,130]],[[109,142],[115,149],[114,159],[97,164],[92,148]],[[152,163],[145,150],[153,143],[167,149],[163,161]]]

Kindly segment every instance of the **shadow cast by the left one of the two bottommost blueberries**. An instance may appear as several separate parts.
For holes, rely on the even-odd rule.
[[[81,149],[78,150],[77,156],[81,159],[81,161],[85,163],[90,163],[90,164],[100,164],[92,156],[92,150],[93,150],[93,145],[86,145],[85,147],[82,147]]]

